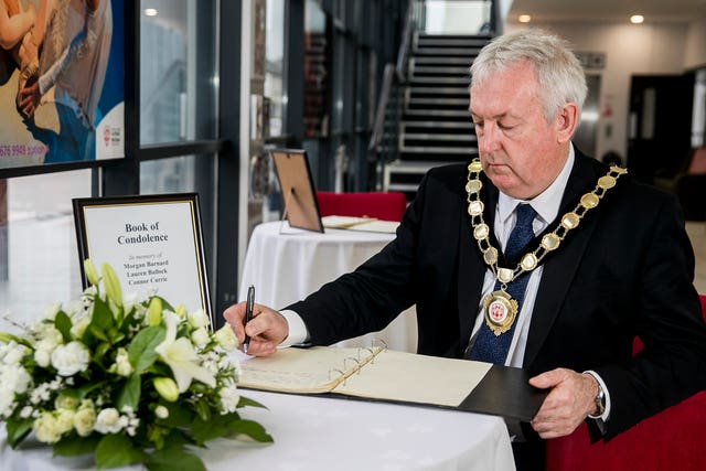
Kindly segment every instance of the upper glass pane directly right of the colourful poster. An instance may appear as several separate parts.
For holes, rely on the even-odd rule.
[[[140,7],[140,143],[214,139],[216,0]]]

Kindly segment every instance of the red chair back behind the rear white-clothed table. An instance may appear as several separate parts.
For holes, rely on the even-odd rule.
[[[400,221],[407,197],[400,192],[332,193],[317,192],[319,213],[323,216],[375,217]]]

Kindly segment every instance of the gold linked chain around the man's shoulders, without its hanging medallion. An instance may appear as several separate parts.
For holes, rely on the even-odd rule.
[[[553,250],[559,248],[559,245],[569,233],[575,229],[586,213],[593,207],[598,206],[600,200],[606,195],[608,190],[616,186],[618,179],[628,173],[628,170],[617,165],[612,165],[608,173],[598,179],[596,188],[581,196],[574,211],[569,211],[564,214],[559,220],[556,228],[542,237],[542,240],[536,249],[523,255],[514,269],[500,268],[498,266],[499,251],[490,243],[490,227],[483,220],[483,202],[480,200],[480,191],[483,186],[483,182],[479,179],[482,172],[481,162],[479,159],[474,159],[468,165],[468,182],[466,184],[466,191],[468,192],[468,214],[471,216],[471,225],[473,226],[473,238],[478,243],[478,248],[483,254],[483,260],[493,271],[495,278],[502,283],[506,285],[514,280],[516,277],[525,271],[534,270],[542,259]]]

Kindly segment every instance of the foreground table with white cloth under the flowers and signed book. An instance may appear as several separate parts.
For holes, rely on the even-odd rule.
[[[242,389],[268,410],[245,408],[274,437],[269,445],[216,439],[197,450],[210,471],[514,470],[499,417],[437,408]],[[50,447],[12,450],[0,432],[3,471],[88,470],[89,457],[52,458]],[[121,468],[137,470],[138,467]]]

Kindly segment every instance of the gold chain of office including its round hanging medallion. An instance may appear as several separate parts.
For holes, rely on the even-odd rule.
[[[559,248],[559,245],[569,233],[569,231],[578,227],[580,221],[586,213],[598,206],[600,200],[606,195],[608,190],[616,186],[618,179],[628,173],[628,170],[612,165],[608,173],[598,179],[596,188],[584,194],[573,211],[564,214],[559,220],[556,228],[545,234],[539,245],[532,251],[524,254],[517,266],[513,268],[502,268],[498,266],[498,248],[490,243],[490,226],[483,220],[484,204],[480,200],[480,191],[483,182],[480,180],[480,173],[483,171],[479,159],[474,159],[468,165],[468,182],[466,191],[468,192],[468,214],[471,216],[471,225],[473,227],[473,238],[478,243],[478,248],[483,254],[483,260],[491,269],[495,279],[500,281],[501,289],[493,291],[483,299],[483,311],[485,323],[495,335],[500,335],[511,329],[517,317],[517,301],[511,298],[505,291],[507,283],[526,271],[532,271],[539,266],[542,259],[553,250]]]

